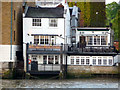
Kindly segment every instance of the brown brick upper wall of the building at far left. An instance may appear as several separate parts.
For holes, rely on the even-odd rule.
[[[12,44],[22,45],[22,2],[13,2],[12,8]],[[35,6],[34,2],[28,2],[28,6]],[[2,37],[0,44],[11,44],[11,2],[2,2]]]

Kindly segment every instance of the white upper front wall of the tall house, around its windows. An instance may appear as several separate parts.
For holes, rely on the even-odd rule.
[[[41,19],[42,26],[32,26],[32,18],[23,18],[23,42],[30,43],[34,41],[34,37],[31,34],[54,34],[54,35],[62,35],[57,37],[57,44],[64,44],[65,38],[65,29],[64,29],[64,18],[58,19],[58,27],[49,27],[49,19],[42,18]],[[29,34],[29,35],[28,35]]]

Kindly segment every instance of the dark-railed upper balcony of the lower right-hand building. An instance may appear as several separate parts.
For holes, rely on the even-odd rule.
[[[65,45],[68,54],[116,54],[114,46],[84,46]]]

